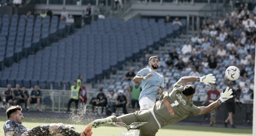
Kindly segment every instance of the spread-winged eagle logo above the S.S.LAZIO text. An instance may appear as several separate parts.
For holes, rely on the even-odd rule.
[[[111,125],[114,125],[118,128],[122,128],[124,130],[130,131],[130,130],[134,130],[134,129],[139,129],[140,126],[146,124],[147,122],[134,122],[131,125],[126,125],[123,122],[112,122],[110,123]]]

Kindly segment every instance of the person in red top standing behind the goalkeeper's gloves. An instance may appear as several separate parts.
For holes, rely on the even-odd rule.
[[[209,102],[209,105],[210,105],[212,102],[219,99],[221,92],[219,92],[219,90],[217,90],[216,88],[217,88],[217,83],[212,84],[212,89],[208,90],[206,100],[202,103],[202,105],[204,105],[206,102]],[[217,113],[218,113],[218,108],[216,108],[211,112],[211,122],[210,122],[211,127],[212,126],[217,127],[216,125]]]

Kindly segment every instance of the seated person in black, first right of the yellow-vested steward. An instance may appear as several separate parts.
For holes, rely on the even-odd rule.
[[[99,89],[99,94],[97,95],[97,98],[92,98],[91,100],[91,104],[93,105],[92,108],[93,108],[93,112],[94,111],[94,107],[95,106],[101,106],[102,109],[101,109],[101,114],[103,113],[103,107],[105,107],[108,102],[107,102],[107,98],[105,96],[105,94],[103,93],[103,90],[102,89]],[[113,111],[115,112],[115,111]]]

